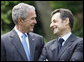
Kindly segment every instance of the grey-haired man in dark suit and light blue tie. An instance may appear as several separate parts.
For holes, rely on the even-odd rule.
[[[33,33],[36,22],[35,8],[25,3],[19,3],[12,10],[14,29],[1,36],[1,61],[36,61],[44,46],[43,37]],[[21,36],[26,35],[29,58],[23,46]],[[27,53],[28,53],[27,52]]]

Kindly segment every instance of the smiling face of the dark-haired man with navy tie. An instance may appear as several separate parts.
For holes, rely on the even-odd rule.
[[[50,27],[53,28],[53,33],[57,35],[61,35],[65,30],[65,23],[60,18],[60,13],[56,13],[51,18]]]

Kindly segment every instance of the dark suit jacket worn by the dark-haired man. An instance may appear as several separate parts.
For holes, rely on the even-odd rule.
[[[43,48],[39,61],[83,61],[83,39],[71,34],[57,53],[57,39],[49,41]]]

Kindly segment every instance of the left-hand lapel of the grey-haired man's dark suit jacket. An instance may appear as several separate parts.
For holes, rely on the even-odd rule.
[[[20,55],[24,58],[24,60],[27,60],[24,48],[23,48],[21,41],[20,41],[17,33],[15,32],[15,30],[12,30],[11,38],[12,38],[11,42],[15,46],[18,53],[20,53]]]

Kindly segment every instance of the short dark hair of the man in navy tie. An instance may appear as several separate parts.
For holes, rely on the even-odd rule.
[[[65,20],[66,18],[69,18],[69,25],[72,29],[73,23],[74,23],[72,12],[69,9],[60,8],[60,9],[54,10],[51,13],[51,16],[53,16],[55,13],[58,13],[58,12],[60,12],[60,17],[62,18],[62,20]]]

